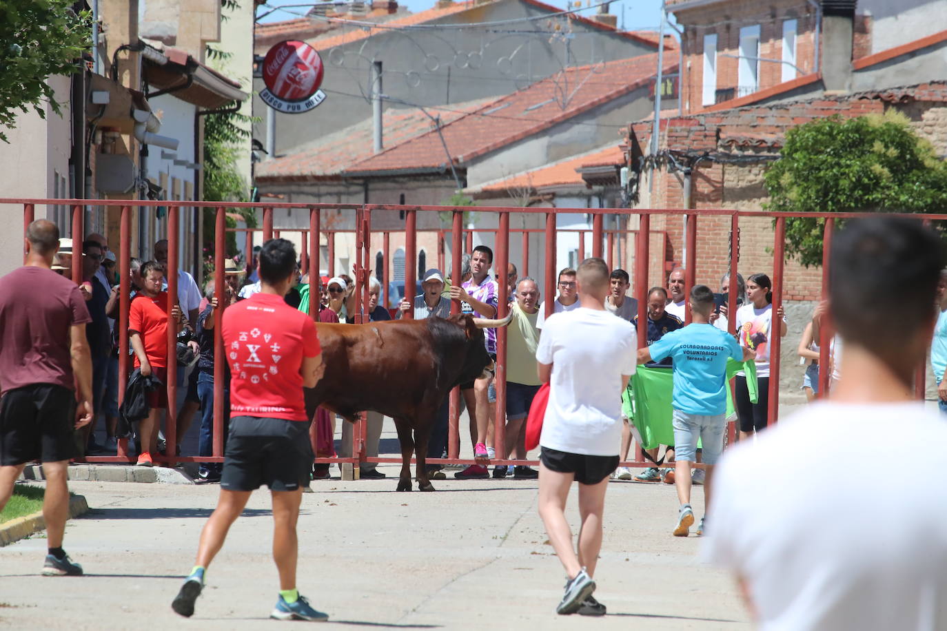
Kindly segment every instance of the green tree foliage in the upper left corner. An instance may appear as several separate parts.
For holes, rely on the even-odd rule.
[[[76,14],[72,0],[3,0],[0,2],[0,140],[16,127],[20,113],[45,118],[46,103],[61,114],[46,79],[70,75],[82,67],[82,53],[92,42],[87,11]]]

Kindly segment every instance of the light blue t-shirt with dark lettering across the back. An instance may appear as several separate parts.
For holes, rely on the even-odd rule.
[[[726,360],[742,359],[733,336],[712,324],[688,324],[651,345],[654,361],[674,359],[675,410],[716,416],[726,412]]]

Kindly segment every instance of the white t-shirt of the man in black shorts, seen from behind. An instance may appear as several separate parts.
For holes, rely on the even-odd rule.
[[[540,445],[616,456],[621,445],[621,376],[634,375],[634,324],[578,308],[545,323],[536,360],[553,364]]]

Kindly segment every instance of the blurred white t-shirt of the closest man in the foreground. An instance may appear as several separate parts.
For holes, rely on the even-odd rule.
[[[759,629],[947,629],[943,461],[867,479],[893,435],[937,448],[947,423],[915,403],[815,403],[724,454],[704,553],[746,581]],[[819,445],[831,475],[800,475],[825,470]]]

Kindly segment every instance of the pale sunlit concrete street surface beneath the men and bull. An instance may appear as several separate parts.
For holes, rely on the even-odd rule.
[[[697,560],[700,539],[670,535],[674,489],[612,482],[596,596],[605,619],[557,616],[564,575],[536,515],[535,481],[313,482],[299,519],[299,588],[350,628],[745,628],[733,581]],[[217,485],[71,482],[91,510],[65,548],[82,578],[39,575],[45,538],[0,549],[0,626],[46,629],[259,629],[277,598],[268,493],[251,498],[207,572],[193,618],[170,609],[193,565]],[[701,506],[695,488],[693,504]],[[578,521],[575,492],[569,517]],[[697,515],[703,511],[698,510]]]

